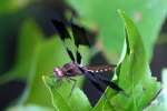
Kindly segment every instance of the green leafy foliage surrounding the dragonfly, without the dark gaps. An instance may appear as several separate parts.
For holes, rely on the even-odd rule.
[[[8,1],[10,4],[8,4]],[[0,23],[7,27],[4,29],[8,29],[11,24],[9,22],[6,26],[2,16],[14,14],[31,1],[33,0],[22,2],[20,0],[17,0],[17,2],[13,2],[13,0],[0,1]],[[81,16],[80,21],[86,27],[99,31],[98,50],[102,50],[109,61],[119,61],[115,81],[125,92],[116,93],[114,90],[107,89],[107,99],[104,94],[98,103],[91,107],[80,89],[82,78],[77,78],[78,87],[73,90],[71,98],[68,98],[71,83],[63,80],[61,87],[59,87],[56,78],[52,77],[52,73],[50,74],[55,67],[61,67],[70,61],[62,43],[57,36],[46,39],[41,29],[32,19],[24,19],[19,30],[16,62],[10,71],[0,77],[0,85],[14,79],[24,80],[27,85],[23,93],[13,102],[12,105],[14,107],[9,107],[8,110],[115,111],[117,109],[129,111],[129,109],[132,109],[134,111],[140,111],[148,107],[160,90],[160,83],[151,77],[148,60],[151,58],[154,43],[167,13],[166,0],[154,0],[154,2],[151,0],[130,0],[127,3],[119,0],[115,3],[110,0],[67,1],[77,9]],[[126,39],[124,38],[121,19],[116,12],[118,8],[126,10],[128,17],[131,17],[137,26],[136,28],[131,19],[119,11],[127,32]],[[0,28],[0,30],[3,30],[3,28]],[[0,32],[0,39],[3,38],[3,33]],[[0,42],[1,49],[3,41]],[[121,51],[122,47],[125,50]],[[88,49],[81,48],[80,50],[85,56],[86,63],[88,63]],[[4,58],[1,53],[3,51],[0,50],[0,65],[2,65]],[[161,103],[163,100],[159,101]],[[164,101],[161,104],[164,104]],[[159,104],[150,104],[146,110],[157,109],[155,111],[158,111],[161,108],[163,105]]]

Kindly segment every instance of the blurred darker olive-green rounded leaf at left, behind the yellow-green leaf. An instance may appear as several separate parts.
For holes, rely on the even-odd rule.
[[[29,62],[35,53],[35,49],[42,43],[43,34],[40,28],[31,19],[22,23],[18,39],[17,65]]]

